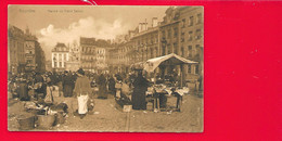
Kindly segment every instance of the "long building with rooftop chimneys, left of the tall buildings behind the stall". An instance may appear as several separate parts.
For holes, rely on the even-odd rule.
[[[152,18],[152,26],[148,23],[139,23],[134,30],[129,30],[124,35],[125,41],[117,44],[116,55],[118,72],[129,72],[132,64],[143,62],[148,59],[156,57],[158,54],[158,22],[156,17]]]

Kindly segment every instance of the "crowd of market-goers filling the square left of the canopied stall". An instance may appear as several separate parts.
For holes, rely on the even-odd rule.
[[[150,82],[143,77],[142,73],[87,73],[82,68],[77,72],[30,72],[17,75],[9,74],[9,94],[11,99],[21,101],[42,101],[52,104],[52,91],[57,89],[60,97],[72,98],[77,101],[72,113],[76,112],[84,117],[93,108],[93,95],[98,99],[107,99],[107,94],[113,94],[116,99],[116,84],[124,84],[132,90],[132,108],[145,110],[145,91]],[[128,91],[129,91],[128,90]],[[81,104],[81,101],[86,104]],[[90,102],[89,102],[90,101]],[[73,102],[74,103],[74,102]],[[82,108],[84,107],[84,108]]]

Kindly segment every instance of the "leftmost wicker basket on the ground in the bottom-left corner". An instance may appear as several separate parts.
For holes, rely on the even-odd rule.
[[[18,118],[20,130],[30,130],[35,128],[35,116]]]

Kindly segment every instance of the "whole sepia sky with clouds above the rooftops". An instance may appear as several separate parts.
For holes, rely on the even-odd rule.
[[[23,30],[27,27],[43,48],[47,59],[56,42],[78,42],[79,37],[114,39],[134,29],[140,22],[159,22],[168,7],[128,5],[10,5],[8,24]]]

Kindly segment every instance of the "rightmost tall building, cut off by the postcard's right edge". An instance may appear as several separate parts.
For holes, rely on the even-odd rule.
[[[184,65],[184,78],[192,86],[193,82],[204,75],[204,9],[202,7],[180,7],[180,55],[198,62],[197,64]],[[203,84],[203,79],[202,79]],[[203,85],[202,85],[203,86]],[[200,88],[200,89],[203,89]]]

